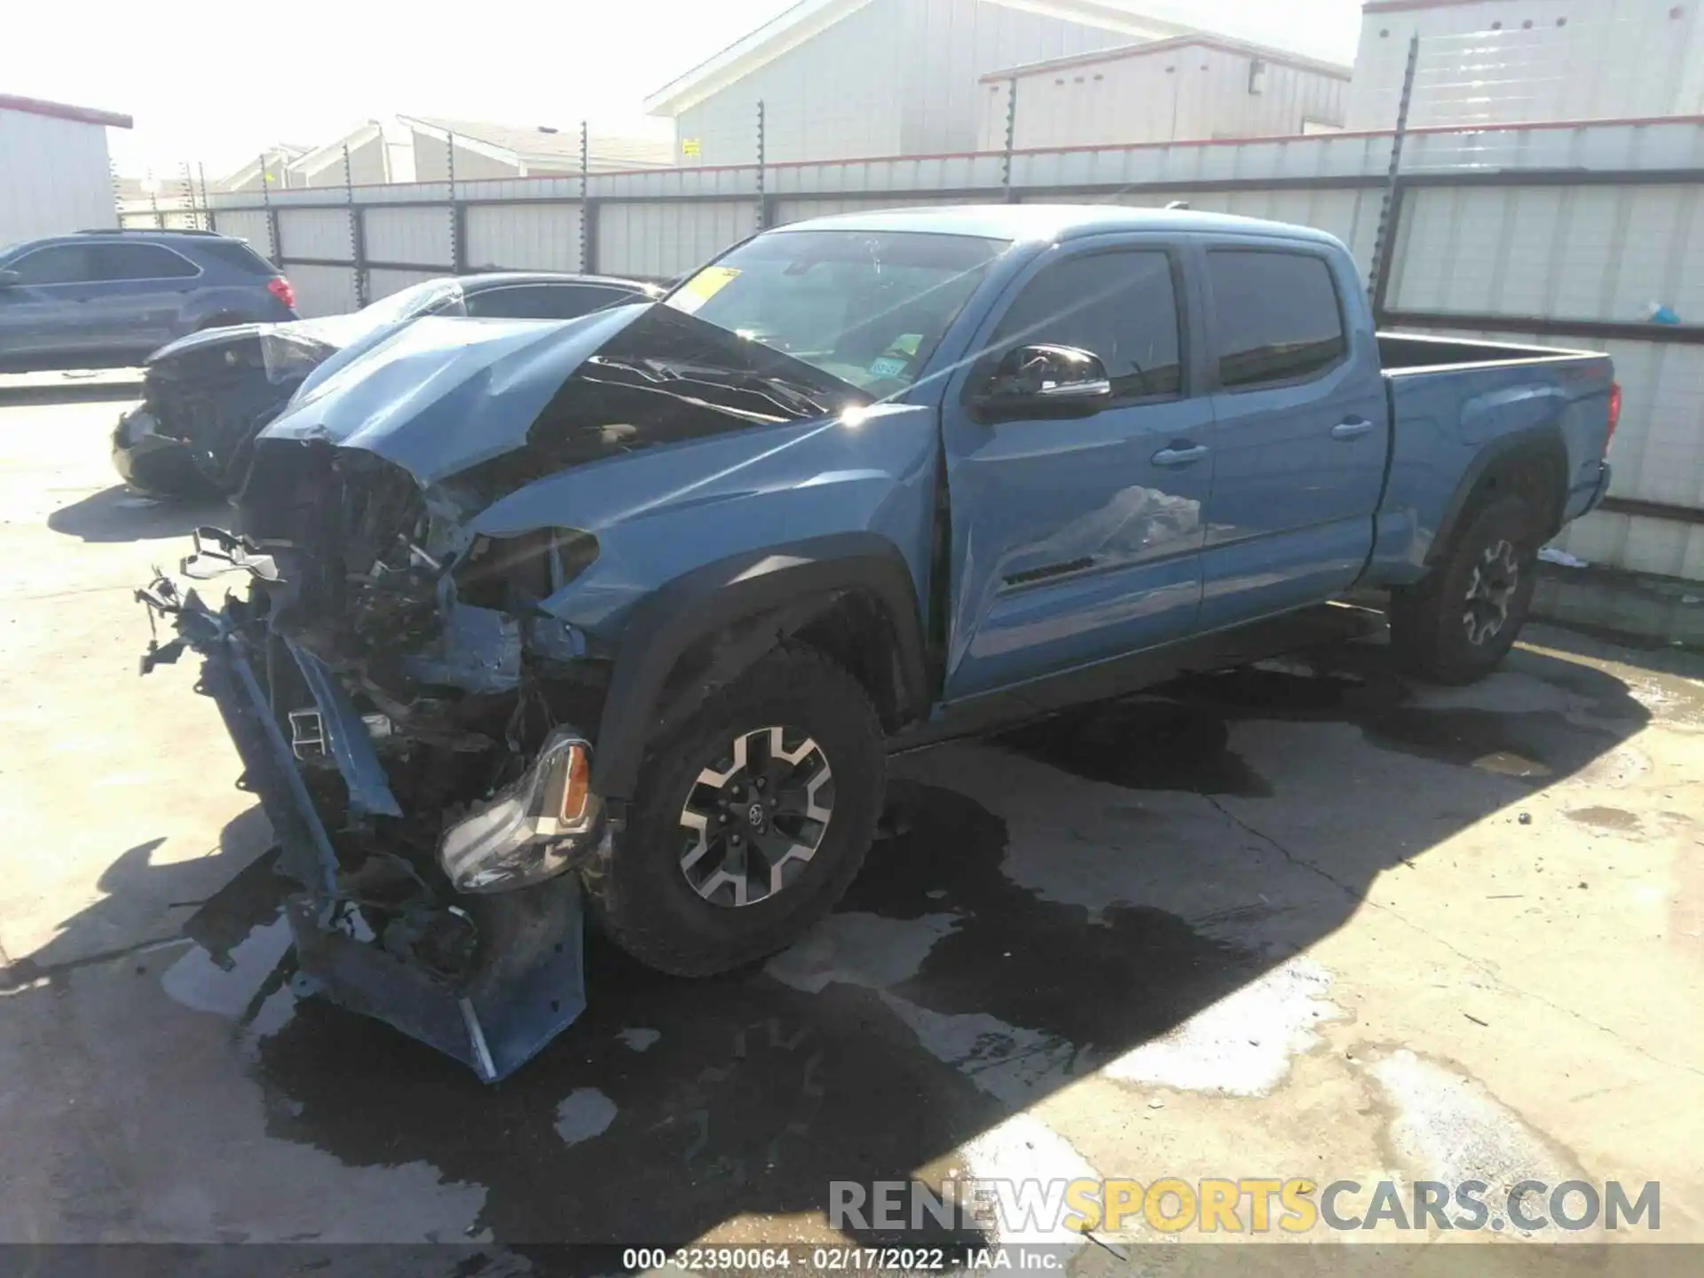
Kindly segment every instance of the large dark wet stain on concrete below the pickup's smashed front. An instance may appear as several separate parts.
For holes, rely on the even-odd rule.
[[[1000,872],[1004,823],[961,794],[896,782],[895,799],[903,833],[878,842],[842,910],[953,925],[889,990],[813,993],[763,970],[675,980],[593,939],[586,1014],[494,1087],[307,1000],[254,1046],[269,1131],[351,1166],[426,1160],[481,1184],[481,1227],[503,1244],[682,1242],[741,1215],[820,1213],[830,1179],[903,1181],[1012,1113],[896,1005],[983,1014],[1092,1065],[1261,970],[1157,910],[1111,907],[1092,925],[1038,900]],[[215,900],[194,927],[239,949],[257,884],[233,884],[233,920]],[[654,1031],[642,1050],[634,1026]]]

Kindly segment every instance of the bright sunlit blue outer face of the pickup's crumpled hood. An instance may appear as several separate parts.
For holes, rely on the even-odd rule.
[[[649,303],[574,320],[424,317],[303,387],[262,440],[329,440],[421,487],[520,448],[567,380]]]

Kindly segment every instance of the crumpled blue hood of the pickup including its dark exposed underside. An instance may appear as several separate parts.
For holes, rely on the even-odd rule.
[[[789,354],[641,302],[576,320],[414,320],[322,365],[261,440],[360,448],[423,489],[453,479],[457,504],[484,508],[588,462],[869,402]]]

